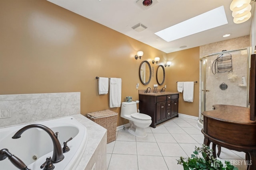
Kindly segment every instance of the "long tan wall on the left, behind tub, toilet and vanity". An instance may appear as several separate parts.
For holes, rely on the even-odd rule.
[[[155,72],[148,85],[140,82],[139,66],[156,56],[163,61],[162,51],[46,0],[1,0],[0,11],[0,94],[81,92],[86,115],[110,109],[96,76],[122,78],[122,101],[138,100],[138,90],[157,84],[156,64],[150,62]],[[142,60],[134,59],[137,51]],[[111,110],[120,114],[120,107]]]

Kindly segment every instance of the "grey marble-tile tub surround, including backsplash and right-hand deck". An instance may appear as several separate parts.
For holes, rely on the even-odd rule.
[[[38,101],[41,102],[41,105]],[[22,104],[25,104],[26,107],[25,105],[21,106]],[[42,120],[72,115],[88,131],[88,143],[76,170],[91,170],[94,163],[95,169],[107,169],[107,131],[104,127],[80,114],[80,92],[0,95],[0,110],[1,117],[8,115],[9,110],[11,115],[9,118],[0,119],[0,128],[38,123]],[[28,112],[25,113],[24,110]],[[38,115],[32,110],[38,111]],[[20,119],[20,117],[24,119]]]

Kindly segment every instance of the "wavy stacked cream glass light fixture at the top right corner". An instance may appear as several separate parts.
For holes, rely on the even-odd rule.
[[[232,17],[234,17],[234,23],[243,23],[250,19],[252,16],[250,10],[252,6],[250,2],[255,0],[233,0],[230,4],[230,10],[232,11]]]

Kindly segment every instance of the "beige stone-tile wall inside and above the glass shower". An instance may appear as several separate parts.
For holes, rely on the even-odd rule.
[[[250,37],[243,36],[226,41],[220,41],[208,45],[200,46],[200,58],[212,53],[221,52],[222,50],[236,50],[250,46]],[[243,53],[244,52],[244,53]],[[247,92],[246,87],[241,87],[242,76],[247,75],[247,51],[232,53],[232,74],[237,76],[237,79],[228,80],[228,74],[216,73],[212,74],[212,62],[218,55],[208,57],[206,62],[206,110],[212,110],[214,104],[229,104],[246,107]],[[216,71],[217,72],[217,71]],[[201,77],[201,76],[200,76]],[[221,90],[221,83],[226,83],[228,88]],[[200,89],[200,92],[202,90]],[[200,101],[201,101],[200,94]],[[201,104],[201,102],[200,102]],[[201,110],[201,106],[199,108]]]

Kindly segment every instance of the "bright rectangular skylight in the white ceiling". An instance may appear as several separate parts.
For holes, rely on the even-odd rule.
[[[228,23],[224,6],[220,6],[204,14],[163,29],[155,34],[167,42],[212,29]]]

